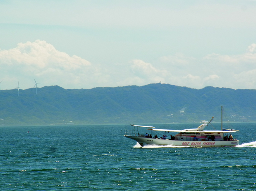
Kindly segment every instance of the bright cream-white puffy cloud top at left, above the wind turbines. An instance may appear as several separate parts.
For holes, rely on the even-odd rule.
[[[57,51],[54,46],[43,40],[18,43],[16,48],[0,51],[2,62],[8,65],[20,64],[37,68],[56,67],[59,69],[77,69],[90,66],[90,62],[64,52]]]

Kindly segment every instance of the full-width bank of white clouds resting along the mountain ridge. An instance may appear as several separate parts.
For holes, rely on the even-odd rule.
[[[255,49],[256,45],[251,44],[244,54],[238,55],[213,53],[196,59],[179,53],[160,57],[154,63],[137,59],[95,66],[36,40],[0,50],[0,80],[4,80],[1,89],[15,88],[18,81],[21,89],[32,88],[33,78],[42,86],[63,88],[143,86],[160,82],[190,88],[256,88]]]

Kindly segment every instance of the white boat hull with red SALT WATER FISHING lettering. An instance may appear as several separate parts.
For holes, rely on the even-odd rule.
[[[180,140],[163,140],[147,137],[128,136],[125,137],[136,140],[141,146],[145,145],[173,145],[187,147],[235,147],[239,145],[239,140],[233,141],[180,141]]]

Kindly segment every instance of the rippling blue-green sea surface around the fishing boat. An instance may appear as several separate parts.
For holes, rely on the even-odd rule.
[[[230,125],[233,148],[141,148],[123,136],[130,125],[0,127],[0,190],[254,191],[256,123]]]

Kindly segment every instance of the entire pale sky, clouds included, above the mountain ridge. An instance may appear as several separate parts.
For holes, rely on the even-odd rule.
[[[256,1],[0,0],[0,89],[35,81],[256,89]]]

